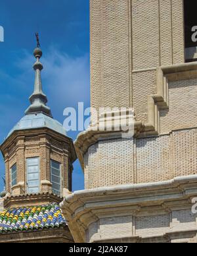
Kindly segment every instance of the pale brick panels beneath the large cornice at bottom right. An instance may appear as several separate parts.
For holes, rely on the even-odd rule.
[[[190,209],[169,210],[169,213],[137,214],[128,216],[114,216],[100,218],[89,226],[87,241],[121,242],[122,238],[135,241],[135,237],[144,239],[141,242],[156,243],[190,243],[196,242],[196,234],[190,234],[189,230],[196,230],[196,214]],[[179,233],[177,233],[179,232]],[[188,234],[186,234],[188,232]],[[176,234],[170,236],[170,234]],[[164,236],[168,234],[167,236]],[[132,240],[133,238],[133,240]],[[149,240],[146,240],[148,239]],[[117,240],[116,240],[117,239]],[[136,240],[138,241],[138,240]]]

